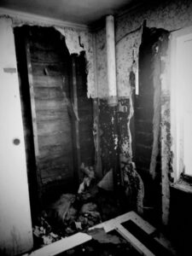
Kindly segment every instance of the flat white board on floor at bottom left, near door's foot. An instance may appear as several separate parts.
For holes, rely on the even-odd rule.
[[[25,254],[23,256],[53,256],[62,252],[65,252],[73,247],[77,247],[80,244],[90,241],[91,236],[84,233],[77,233],[73,236],[68,236],[60,241],[55,241],[46,247],[42,247],[35,252]]]

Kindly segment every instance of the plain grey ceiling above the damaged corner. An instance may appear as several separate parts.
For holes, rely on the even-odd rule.
[[[90,25],[141,0],[1,0],[0,7]]]

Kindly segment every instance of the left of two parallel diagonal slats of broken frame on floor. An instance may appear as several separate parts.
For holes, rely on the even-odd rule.
[[[133,236],[128,230],[126,230],[121,224],[117,224],[116,230],[121,236],[125,238],[126,241],[129,241],[131,245],[137,249],[139,253],[146,256],[154,256],[154,253],[148,250],[147,247],[143,245],[135,236]]]

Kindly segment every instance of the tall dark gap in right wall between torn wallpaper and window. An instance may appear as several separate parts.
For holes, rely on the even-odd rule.
[[[161,222],[160,74],[169,33],[143,27],[139,48],[139,93],[134,98],[134,161],[144,183],[144,216]]]

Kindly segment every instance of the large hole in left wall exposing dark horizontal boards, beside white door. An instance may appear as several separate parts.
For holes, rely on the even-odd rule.
[[[15,48],[30,200],[36,216],[38,202],[42,209],[61,193],[77,192],[82,161],[94,164],[92,101],[86,96],[84,52],[70,55],[55,28],[16,27]]]

